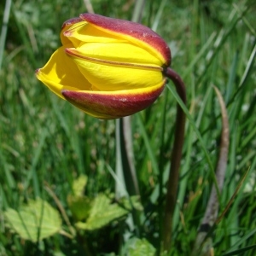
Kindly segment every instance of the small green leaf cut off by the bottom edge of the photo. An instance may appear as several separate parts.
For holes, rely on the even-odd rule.
[[[133,244],[128,248],[129,256],[154,256],[155,248],[146,239],[134,239]]]

